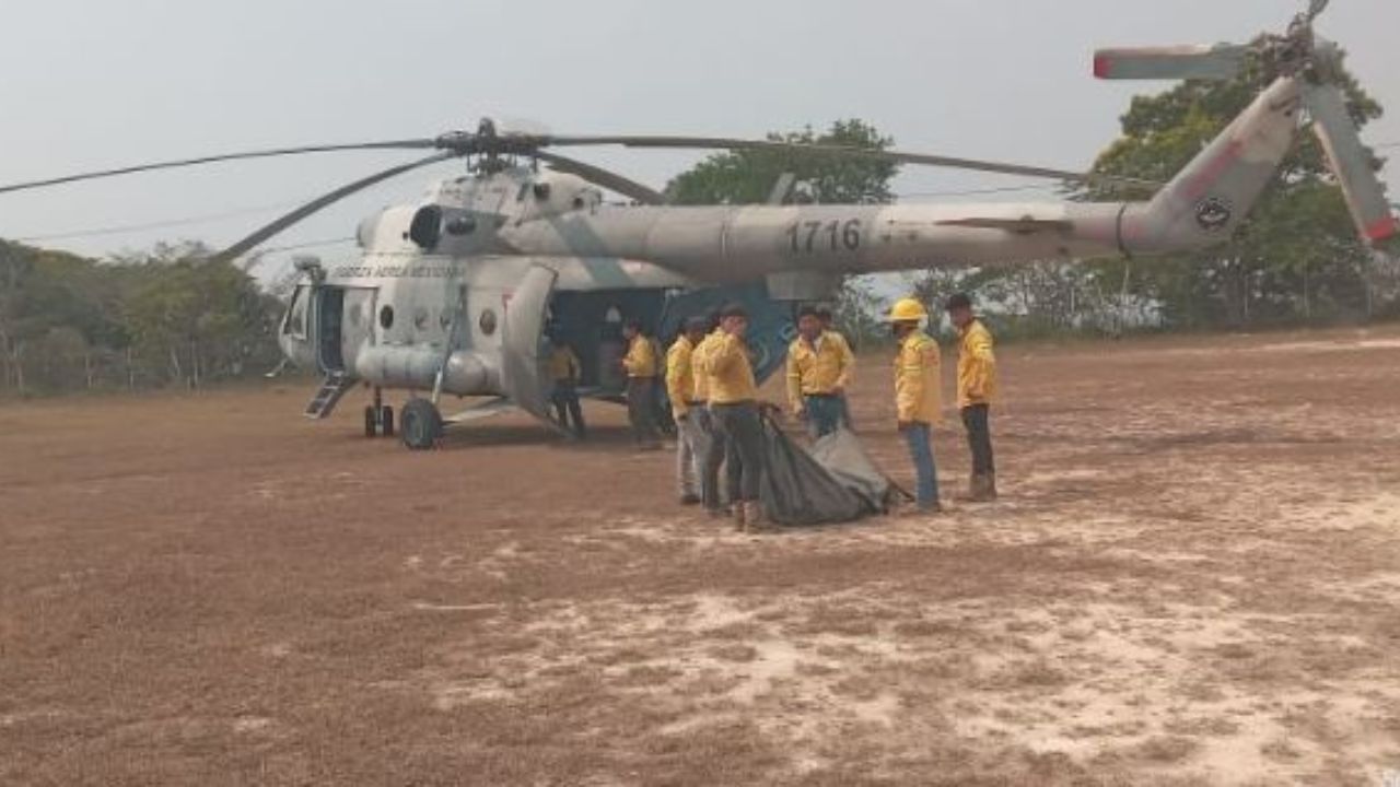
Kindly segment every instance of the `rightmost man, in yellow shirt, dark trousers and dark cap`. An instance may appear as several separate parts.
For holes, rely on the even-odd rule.
[[[991,332],[972,311],[972,298],[958,293],[948,298],[948,318],[958,328],[958,409],[967,430],[972,451],[969,499],[997,499],[997,466],[991,457],[991,401],[997,396],[997,356]]]

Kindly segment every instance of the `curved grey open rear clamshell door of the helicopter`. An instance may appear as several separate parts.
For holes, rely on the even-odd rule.
[[[501,328],[501,388],[522,410],[553,426],[549,417],[549,381],[543,374],[540,340],[545,311],[559,273],[535,265],[525,272],[505,304]]]

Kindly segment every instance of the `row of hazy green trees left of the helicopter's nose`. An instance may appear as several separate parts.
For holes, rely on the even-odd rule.
[[[274,363],[280,304],[206,251],[97,262],[0,241],[0,394],[197,386]]]

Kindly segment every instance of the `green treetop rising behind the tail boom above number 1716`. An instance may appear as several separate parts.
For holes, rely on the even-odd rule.
[[[770,140],[883,150],[895,140],[864,120],[837,120],[825,133],[770,133]],[[797,181],[792,197],[818,203],[883,203],[893,199],[889,182],[897,167],[883,161],[813,153],[738,150],[717,153],[671,181],[676,204],[760,204],[784,172]]]

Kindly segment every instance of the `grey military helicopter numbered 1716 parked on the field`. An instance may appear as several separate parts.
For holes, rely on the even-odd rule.
[[[353,386],[372,388],[367,434],[392,434],[385,389],[406,389],[399,433],[409,448],[433,447],[444,395],[489,396],[454,420],[515,406],[559,430],[542,372],[546,325],[578,350],[585,384],[620,388],[617,319],[662,330],[720,301],[753,315],[756,371],[783,361],[791,305],[826,300],[844,274],[1155,255],[1228,239],[1289,153],[1305,116],[1317,133],[1358,231],[1380,242],[1400,231],[1371,153],[1338,88],[1337,48],[1313,34],[1327,6],[1313,0],[1282,35],[1247,46],[1107,49],[1100,78],[1229,78],[1246,66],[1266,77],[1253,104],[1170,182],[1149,183],[1145,202],[1039,204],[668,206],[623,175],[566,157],[560,148],[774,150],[953,167],[1072,182],[1142,186],[1142,181],[897,150],[687,136],[559,136],[475,132],[431,139],[288,147],[209,155],[0,186],[0,193],[192,167],[216,161],[344,150],[430,150],[375,172],[259,228],[217,256],[234,259],[351,193],[413,169],[462,158],[461,176],[433,183],[412,204],[360,223],[356,263],[301,260],[301,280],[280,325],[291,363],[325,375],[307,416],[325,417]],[[540,169],[545,165],[546,169]],[[609,204],[603,189],[631,200]],[[778,195],[781,196],[781,195]],[[561,430],[560,430],[561,431]]]

